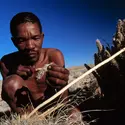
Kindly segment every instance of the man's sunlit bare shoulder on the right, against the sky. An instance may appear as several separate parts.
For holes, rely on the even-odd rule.
[[[63,56],[63,53],[59,49],[46,48],[45,51],[50,62],[54,62],[60,66],[64,66],[64,56]]]

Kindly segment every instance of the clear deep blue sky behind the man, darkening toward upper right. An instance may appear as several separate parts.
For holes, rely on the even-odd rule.
[[[124,0],[123,0],[124,1]],[[43,47],[60,49],[66,67],[93,63],[95,40],[112,42],[117,20],[125,18],[121,0],[1,0],[0,58],[16,48],[9,22],[18,12],[31,11],[43,25]]]

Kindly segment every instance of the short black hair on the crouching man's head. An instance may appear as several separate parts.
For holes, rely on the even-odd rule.
[[[10,21],[10,32],[12,36],[16,35],[16,28],[21,23],[37,23],[40,29],[40,32],[42,32],[42,25],[40,23],[39,18],[33,14],[32,12],[20,12],[16,14],[12,20]]]

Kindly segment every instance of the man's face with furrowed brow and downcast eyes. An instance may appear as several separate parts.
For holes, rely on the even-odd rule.
[[[17,36],[12,40],[28,62],[34,63],[39,59],[43,36],[37,23],[28,22],[17,26]]]

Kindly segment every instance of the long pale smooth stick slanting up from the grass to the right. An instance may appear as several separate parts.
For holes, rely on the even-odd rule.
[[[93,67],[92,69],[88,70],[87,72],[85,72],[83,75],[79,76],[77,79],[75,79],[74,81],[72,81],[71,83],[69,83],[68,85],[66,85],[64,88],[62,88],[59,92],[57,92],[55,95],[53,95],[51,98],[49,98],[48,100],[44,101],[43,103],[41,103],[39,106],[37,106],[28,116],[27,119],[30,118],[36,111],[38,111],[40,108],[42,108],[43,106],[45,106],[46,104],[50,103],[51,101],[53,101],[55,98],[57,98],[59,95],[61,95],[64,91],[66,91],[67,89],[69,89],[73,84],[75,84],[76,82],[78,82],[79,80],[83,79],[85,76],[89,75],[90,73],[92,73],[93,71],[95,71],[96,69],[98,69],[99,67],[103,66],[104,64],[110,62],[112,59],[114,59],[115,57],[117,57],[118,55],[120,55],[121,53],[123,53],[125,51],[125,48],[121,49],[120,51],[118,51],[117,53],[115,53],[113,56],[109,57],[108,59],[104,60],[103,62],[99,63],[98,65],[96,65],[95,67]]]

